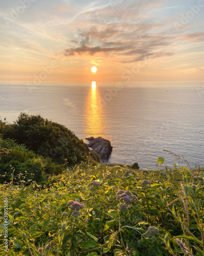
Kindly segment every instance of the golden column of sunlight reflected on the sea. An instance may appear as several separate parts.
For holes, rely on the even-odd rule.
[[[93,136],[105,137],[106,124],[105,124],[105,112],[103,104],[100,99],[100,94],[96,87],[96,82],[91,83],[91,89],[89,91],[86,101],[85,111],[86,126],[84,127],[85,137]]]

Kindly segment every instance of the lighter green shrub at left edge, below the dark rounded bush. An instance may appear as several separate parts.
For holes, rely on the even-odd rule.
[[[37,156],[26,146],[19,145],[11,139],[0,138],[1,183],[11,181],[12,176],[13,182],[19,182],[21,178],[25,182],[32,179],[40,183],[47,179],[45,173],[60,174],[63,170],[63,165],[56,165],[49,158]]]

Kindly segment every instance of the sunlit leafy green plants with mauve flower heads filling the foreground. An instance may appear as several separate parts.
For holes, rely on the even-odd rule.
[[[175,164],[166,171],[98,164],[67,169],[43,189],[2,184],[8,254],[204,255],[203,176]]]

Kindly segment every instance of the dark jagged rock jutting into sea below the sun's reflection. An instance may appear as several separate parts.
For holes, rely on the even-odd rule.
[[[103,139],[101,137],[90,137],[86,138],[89,141],[88,147],[90,147],[95,153],[100,157],[101,162],[105,162],[109,159],[113,147],[109,140]]]

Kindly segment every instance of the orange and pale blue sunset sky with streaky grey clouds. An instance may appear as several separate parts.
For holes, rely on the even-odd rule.
[[[204,79],[204,0],[0,0],[0,6],[0,81]]]

